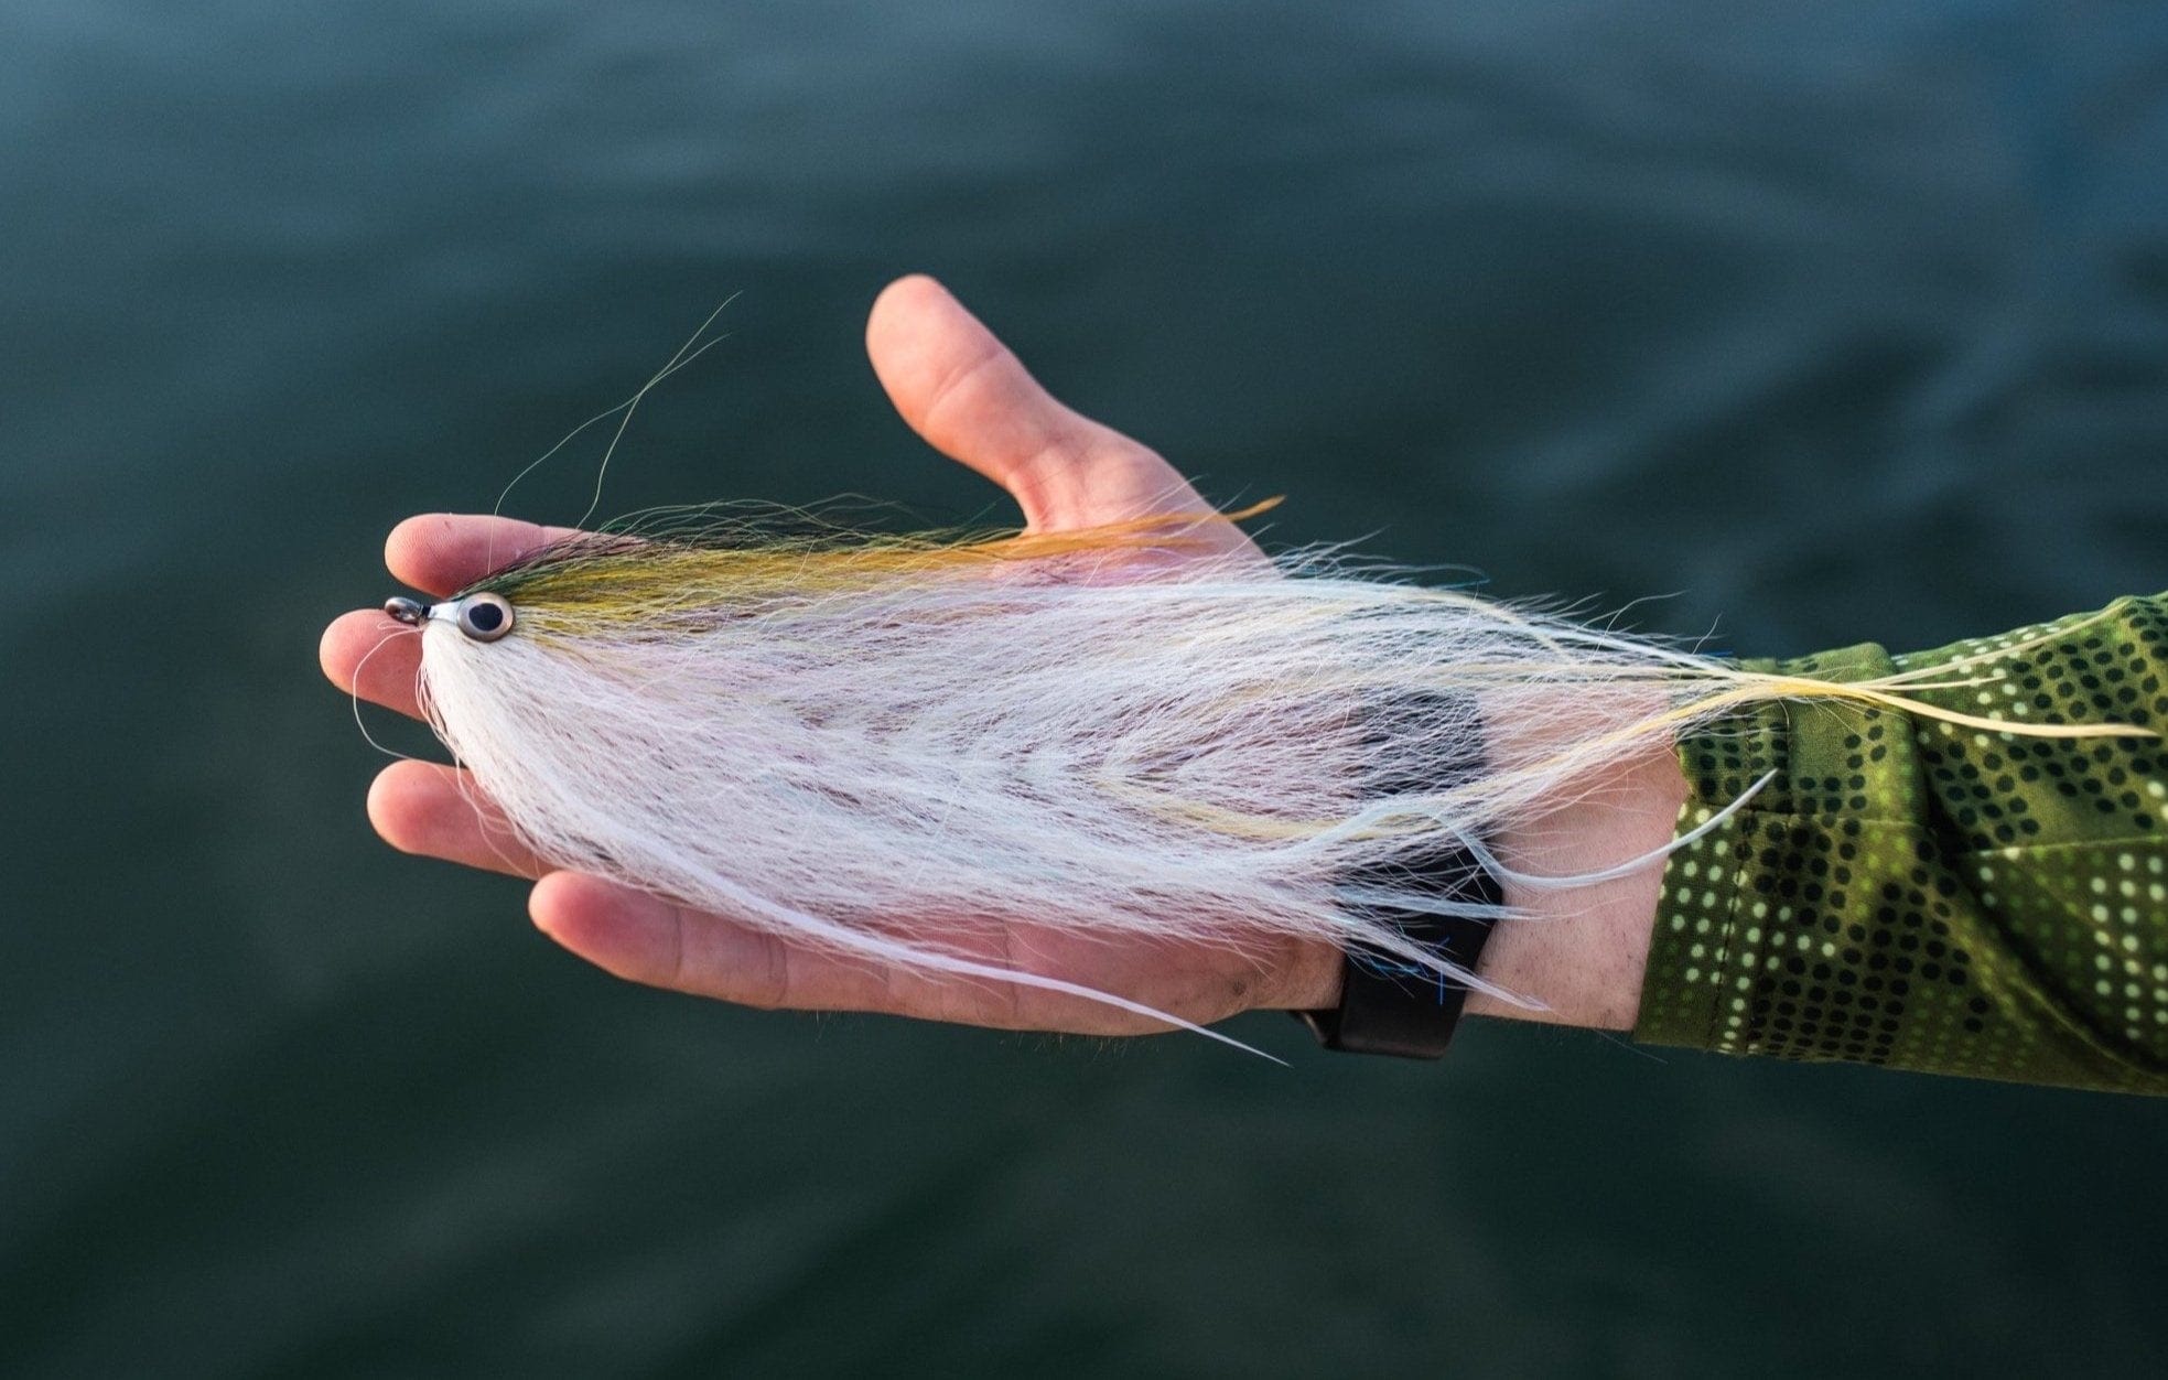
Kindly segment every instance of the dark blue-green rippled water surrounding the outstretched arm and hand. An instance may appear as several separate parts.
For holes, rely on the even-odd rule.
[[[13,0],[0,1369],[2164,1374],[2157,1103],[763,1016],[377,845],[319,626],[724,295],[605,507],[986,507],[908,269],[1283,539],[1745,652],[2168,585],[2159,4]]]

